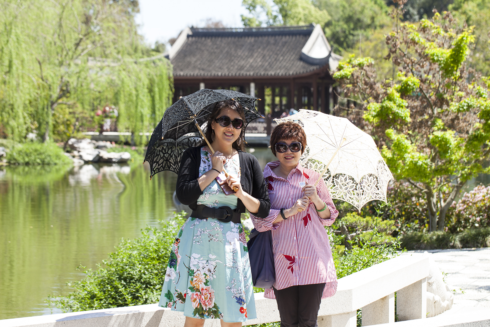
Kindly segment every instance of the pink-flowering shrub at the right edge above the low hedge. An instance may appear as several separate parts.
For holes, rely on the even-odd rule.
[[[490,227],[490,186],[478,185],[465,192],[447,212],[447,226],[451,232],[461,232],[472,227]]]

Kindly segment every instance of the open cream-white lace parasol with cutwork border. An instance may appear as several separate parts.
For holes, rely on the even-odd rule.
[[[393,175],[372,137],[348,119],[300,109],[275,121],[294,121],[303,127],[308,145],[299,163],[320,174],[324,172],[323,179],[333,198],[346,201],[359,211],[369,201],[386,202]]]

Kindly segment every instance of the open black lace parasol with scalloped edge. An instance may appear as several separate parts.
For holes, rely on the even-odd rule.
[[[255,110],[257,98],[232,90],[202,89],[180,98],[165,110],[162,120],[153,130],[145,161],[150,164],[150,178],[163,170],[178,173],[185,150],[203,142],[196,123],[204,130],[208,115],[217,102],[237,100],[244,108],[245,126],[261,115]]]

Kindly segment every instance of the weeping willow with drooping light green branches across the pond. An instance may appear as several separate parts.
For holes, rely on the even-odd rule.
[[[120,109],[120,131],[151,131],[171,105],[172,67],[137,33],[136,0],[2,0],[0,133],[46,141],[59,105]]]

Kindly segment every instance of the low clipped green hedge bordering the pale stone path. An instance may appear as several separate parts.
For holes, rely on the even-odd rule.
[[[490,246],[490,227],[466,229],[459,234],[443,231],[412,232],[399,237],[407,250],[433,250],[445,248],[471,248]]]

